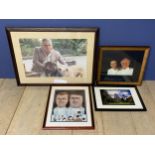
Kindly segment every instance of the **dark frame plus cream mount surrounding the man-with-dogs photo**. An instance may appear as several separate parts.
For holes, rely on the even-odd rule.
[[[18,85],[88,85],[93,82],[98,28],[6,28]],[[19,39],[86,39],[86,65],[82,77],[27,77]],[[72,72],[73,69],[71,69]],[[76,69],[75,69],[76,70]],[[79,71],[80,72],[80,71]],[[77,75],[77,74],[76,74]]]

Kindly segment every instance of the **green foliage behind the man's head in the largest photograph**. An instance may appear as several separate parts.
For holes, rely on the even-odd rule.
[[[53,39],[55,50],[64,56],[86,55],[86,39]],[[41,46],[41,39],[19,39],[23,58],[33,57],[34,49]]]

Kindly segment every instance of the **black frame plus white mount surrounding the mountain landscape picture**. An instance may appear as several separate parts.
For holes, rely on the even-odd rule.
[[[134,104],[103,105],[101,90],[129,90]],[[135,86],[94,86],[93,95],[96,111],[147,111],[141,95]]]

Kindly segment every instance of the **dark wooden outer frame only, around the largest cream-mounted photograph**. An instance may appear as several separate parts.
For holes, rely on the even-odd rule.
[[[11,34],[10,32],[94,32],[95,33],[95,38],[94,38],[94,57],[95,57],[95,51],[96,51],[96,42],[97,42],[97,37],[98,37],[98,31],[99,28],[98,27],[89,27],[89,28],[85,28],[85,27],[75,27],[75,28],[70,28],[70,27],[58,27],[58,28],[54,28],[54,27],[6,27],[6,34],[7,34],[7,38],[8,38],[8,42],[9,42],[9,46],[10,46],[10,51],[11,51],[11,56],[12,56],[12,61],[13,61],[13,66],[14,66],[14,70],[15,70],[15,76],[16,76],[16,80],[17,80],[17,85],[18,86],[36,86],[36,85],[43,85],[43,86],[49,86],[49,85],[63,85],[63,86],[67,86],[67,85],[71,85],[74,86],[76,85],[90,85],[93,83],[94,80],[94,76],[93,76],[93,70],[94,70],[94,59],[92,62],[92,80],[91,83],[21,83],[20,81],[20,77],[19,77],[19,73],[18,73],[18,66],[16,63],[16,58],[15,58],[15,54],[14,54],[14,48],[13,48],[13,44],[12,44],[12,39],[11,39]]]

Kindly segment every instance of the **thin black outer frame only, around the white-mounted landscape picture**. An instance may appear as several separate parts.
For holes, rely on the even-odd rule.
[[[141,102],[141,104],[142,104],[142,107],[143,107],[143,109],[128,109],[128,108],[126,108],[126,109],[111,109],[111,108],[106,108],[106,109],[104,109],[104,108],[98,108],[97,107],[97,99],[96,99],[96,96],[95,96],[95,91],[94,91],[94,89],[95,89],[95,87],[100,87],[100,88],[102,88],[102,87],[104,87],[104,86],[94,86],[93,87],[93,96],[94,96],[94,103],[95,103],[95,110],[96,111],[141,111],[141,112],[143,112],[143,111],[147,111],[147,109],[146,109],[146,106],[145,106],[145,104],[144,104],[144,102],[143,102],[143,99],[142,99],[142,97],[141,97],[141,95],[140,95],[140,93],[139,93],[139,91],[138,91],[138,89],[137,89],[137,87],[136,86],[124,86],[124,85],[122,85],[122,86],[115,86],[115,85],[105,85],[105,87],[118,87],[118,89],[119,89],[119,87],[132,87],[132,88],[135,88],[135,90],[136,90],[136,93],[137,93],[137,95],[138,95],[138,98],[139,98],[139,100],[140,100],[140,102]]]

